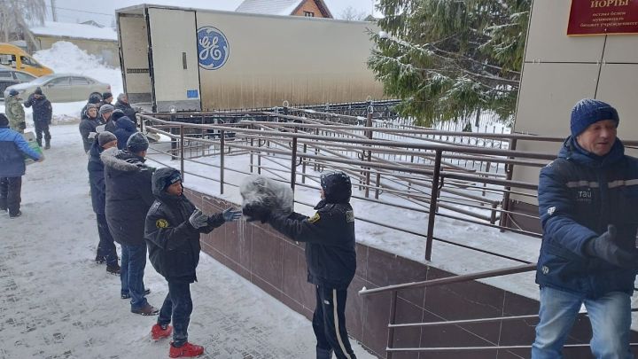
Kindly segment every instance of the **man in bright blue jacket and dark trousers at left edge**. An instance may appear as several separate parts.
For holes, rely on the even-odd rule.
[[[19,210],[22,176],[26,171],[24,156],[38,162],[44,156],[29,148],[24,137],[9,129],[9,119],[0,113],[0,210],[9,210],[9,217],[22,215]]]

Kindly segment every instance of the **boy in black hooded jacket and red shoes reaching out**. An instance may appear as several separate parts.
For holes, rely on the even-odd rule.
[[[168,282],[168,294],[159,311],[152,339],[175,332],[168,355],[172,358],[198,356],[204,347],[188,342],[191,320],[191,283],[197,280],[199,234],[209,233],[224,222],[237,221],[240,211],[228,208],[217,215],[205,215],[183,196],[182,176],[175,168],[159,168],[152,175],[155,202],[146,215],[145,235],[153,268]]]

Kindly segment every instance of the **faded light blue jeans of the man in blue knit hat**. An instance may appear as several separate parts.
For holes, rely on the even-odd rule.
[[[541,288],[541,321],[536,325],[533,359],[562,358],[581,304],[585,304],[594,333],[589,344],[599,359],[633,358],[629,347],[631,300],[627,293],[611,292],[591,300],[554,288]]]

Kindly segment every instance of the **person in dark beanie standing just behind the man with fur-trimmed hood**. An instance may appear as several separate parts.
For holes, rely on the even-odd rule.
[[[111,230],[106,222],[105,205],[106,205],[106,186],[104,176],[104,163],[100,160],[100,154],[109,148],[117,147],[117,137],[111,132],[100,132],[97,141],[89,150],[89,183],[91,190],[91,203],[93,212],[97,217],[97,235],[99,236],[99,244],[97,245],[96,263],[106,262],[106,271],[112,274],[120,274],[120,265],[118,264],[117,250],[113,243]]]

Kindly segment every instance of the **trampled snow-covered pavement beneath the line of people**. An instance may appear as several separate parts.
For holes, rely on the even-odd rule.
[[[0,214],[0,358],[167,357],[168,340],[150,338],[157,317],[131,314],[119,277],[93,262],[97,226],[77,124],[51,132],[46,160],[23,177],[24,215]],[[206,254],[198,278],[189,334],[206,347],[201,358],[315,357],[305,317]],[[150,263],[144,280],[159,307],[167,285]]]

